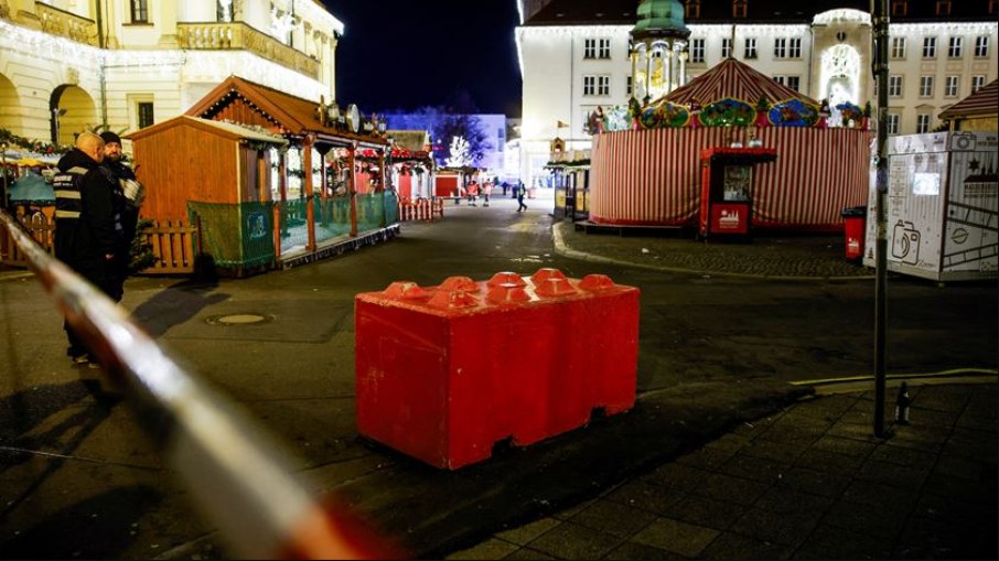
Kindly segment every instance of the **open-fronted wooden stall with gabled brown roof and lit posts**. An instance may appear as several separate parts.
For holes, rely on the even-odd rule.
[[[237,76],[208,91],[186,115],[288,140],[289,149],[275,154],[277,266],[309,262],[398,234],[398,198],[385,188],[388,141],[376,116],[368,119],[354,105],[342,110],[335,101],[316,103]],[[300,157],[291,158],[292,152]],[[289,175],[301,182],[298,197],[289,196]]]

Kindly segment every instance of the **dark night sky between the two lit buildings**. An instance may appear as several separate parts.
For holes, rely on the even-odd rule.
[[[514,0],[322,0],[345,25],[336,97],[362,111],[453,105],[520,116]],[[385,78],[376,74],[383,67]]]

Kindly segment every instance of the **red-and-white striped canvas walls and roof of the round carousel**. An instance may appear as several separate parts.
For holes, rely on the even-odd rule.
[[[673,91],[674,104],[702,107],[724,98],[755,106],[808,97],[727,60]],[[841,211],[867,204],[870,132],[862,128],[749,127],[773,163],[753,171],[752,227],[803,231],[842,229]],[[593,137],[590,220],[598,224],[692,226],[700,208],[700,154],[748,131],[680,127],[603,132]]]

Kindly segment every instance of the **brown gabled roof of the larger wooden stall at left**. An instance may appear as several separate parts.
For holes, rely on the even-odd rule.
[[[341,108],[346,112],[345,109]],[[194,104],[185,115],[258,125],[283,134],[315,133],[326,138],[357,140],[378,145],[387,143],[379,136],[355,133],[337,127],[335,121],[323,122],[320,120],[320,114],[318,101],[292,96],[238,76],[229,76]]]

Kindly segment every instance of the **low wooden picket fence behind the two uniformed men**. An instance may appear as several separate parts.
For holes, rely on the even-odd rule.
[[[20,220],[31,237],[45,248],[49,255],[52,255],[55,224],[42,214],[21,217]],[[163,224],[153,222],[138,235],[146,237],[157,260],[152,267],[142,270],[140,274],[193,273],[196,234],[196,227],[186,226],[182,222]],[[11,239],[10,233],[6,229],[0,233],[0,262],[13,267],[28,267],[28,260],[21,255],[17,244]]]

